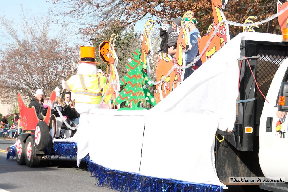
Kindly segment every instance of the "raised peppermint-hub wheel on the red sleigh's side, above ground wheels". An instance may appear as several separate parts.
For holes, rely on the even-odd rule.
[[[38,150],[45,149],[49,142],[49,127],[44,121],[39,121],[35,127],[35,146]]]

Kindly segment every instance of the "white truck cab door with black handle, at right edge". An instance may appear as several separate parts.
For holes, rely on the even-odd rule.
[[[288,59],[278,68],[268,90],[260,118],[259,164],[265,177],[285,176],[288,181],[288,115],[278,119],[280,85],[288,80]]]

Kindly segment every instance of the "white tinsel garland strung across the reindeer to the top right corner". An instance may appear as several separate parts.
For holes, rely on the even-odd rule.
[[[216,29],[214,29],[214,32],[212,33],[211,37],[209,38],[209,40],[206,43],[206,46],[204,47],[203,51],[201,52],[201,54],[199,56],[197,56],[193,62],[191,62],[190,64],[186,65],[186,66],[178,66],[178,65],[173,65],[172,68],[168,71],[167,75],[165,75],[160,81],[153,81],[152,83],[154,85],[160,84],[162,83],[167,77],[169,77],[169,75],[172,73],[172,71],[174,69],[187,69],[189,67],[191,67],[193,64],[195,64],[204,54],[204,52],[206,52],[206,49],[209,47],[212,38],[216,35],[216,31],[217,29],[219,29],[220,25],[223,24],[224,22],[229,24],[229,25],[233,25],[233,26],[238,26],[238,27],[244,27],[244,26],[252,26],[252,25],[259,25],[259,24],[263,24],[266,23],[268,21],[271,21],[272,19],[278,17],[279,15],[283,14],[286,10],[288,10],[288,7],[286,7],[285,9],[283,9],[282,11],[280,11],[277,14],[272,15],[271,17],[260,21],[260,22],[255,22],[255,23],[250,23],[250,24],[243,24],[243,23],[237,23],[234,21],[228,21],[226,19],[222,20],[221,22],[219,22],[219,24],[217,25]]]

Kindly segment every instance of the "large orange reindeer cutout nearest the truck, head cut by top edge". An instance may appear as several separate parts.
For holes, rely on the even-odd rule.
[[[198,36],[198,47],[199,47],[199,53],[201,54],[206,47],[207,41],[210,39],[212,34],[214,33],[214,30],[216,29],[219,22],[222,22],[223,19],[225,19],[225,16],[223,14],[223,9],[225,8],[225,5],[227,4],[227,0],[212,0],[212,11],[213,11],[213,26],[207,35],[204,35],[203,37]],[[222,23],[217,29],[216,35],[211,39],[210,45],[206,50],[204,50],[204,54],[201,57],[202,63],[204,63],[207,59],[211,58],[213,54],[215,54],[217,51],[219,51],[228,41],[230,40],[229,36],[229,30],[228,30],[228,24],[225,22]]]

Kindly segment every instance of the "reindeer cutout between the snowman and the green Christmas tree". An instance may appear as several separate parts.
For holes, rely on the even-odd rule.
[[[115,52],[115,41],[117,35],[113,33],[110,37],[110,43],[109,43],[109,52],[107,53],[107,57],[109,57],[109,64],[110,64],[110,79],[108,84],[104,88],[104,92],[106,93],[106,96],[104,98],[105,104],[107,108],[111,108],[111,99],[113,100],[114,109],[115,109],[115,99],[118,96],[116,91],[119,92],[120,90],[120,84],[119,84],[119,75],[116,69],[117,63],[118,63],[118,57]],[[114,36],[114,38],[113,38]],[[113,43],[112,43],[113,41]],[[108,87],[110,86],[109,90]],[[115,90],[114,89],[117,89]],[[119,109],[120,106],[118,105],[117,108]]]

